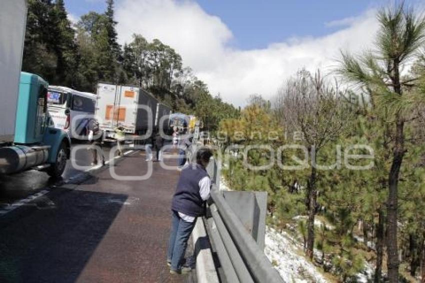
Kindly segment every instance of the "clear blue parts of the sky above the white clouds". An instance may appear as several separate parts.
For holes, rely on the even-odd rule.
[[[119,5],[121,0],[115,0]],[[72,15],[90,10],[101,12],[104,0],[65,0]],[[264,48],[291,37],[322,36],[341,26],[326,23],[358,16],[365,10],[391,3],[391,0],[197,0],[208,14],[216,15],[234,37],[230,45],[241,48]],[[406,3],[415,3],[409,0]]]

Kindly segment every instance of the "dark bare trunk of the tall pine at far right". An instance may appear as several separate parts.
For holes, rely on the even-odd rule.
[[[398,282],[398,252],[397,252],[397,205],[398,205],[398,174],[404,155],[404,122],[397,114],[395,143],[391,169],[388,175],[387,201],[387,268],[389,283]]]

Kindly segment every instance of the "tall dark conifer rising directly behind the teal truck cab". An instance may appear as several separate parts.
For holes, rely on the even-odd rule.
[[[78,50],[63,0],[29,0],[22,69],[73,86]]]

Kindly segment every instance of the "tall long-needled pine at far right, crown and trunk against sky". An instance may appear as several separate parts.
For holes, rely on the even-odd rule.
[[[368,51],[359,60],[343,53],[341,73],[349,80],[371,89],[373,100],[389,122],[392,138],[391,167],[387,174],[387,269],[389,282],[398,281],[397,208],[398,180],[406,151],[406,116],[416,106],[417,96],[409,95],[406,87],[415,84],[415,78],[405,79],[400,71],[415,56],[425,42],[425,18],[416,17],[413,10],[403,4],[394,9],[382,9],[378,13],[380,30],[376,36],[376,49]]]

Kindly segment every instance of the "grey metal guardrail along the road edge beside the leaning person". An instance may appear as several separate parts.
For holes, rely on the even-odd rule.
[[[192,145],[191,151],[194,157],[196,145]],[[219,190],[219,162],[211,159],[207,171],[212,180],[212,202],[209,203],[210,216],[206,217],[205,223],[212,248],[220,262],[218,273],[221,281],[282,283],[282,277]]]

